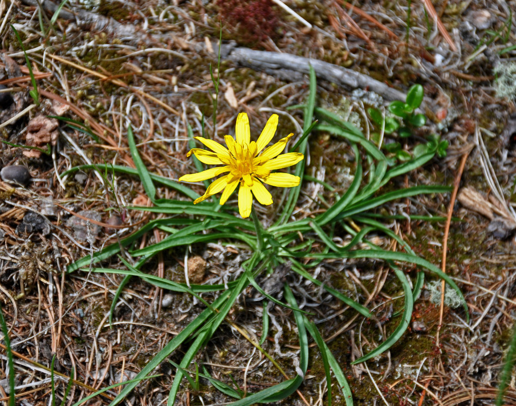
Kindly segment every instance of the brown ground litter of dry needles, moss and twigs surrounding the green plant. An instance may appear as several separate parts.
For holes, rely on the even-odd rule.
[[[435,290],[441,284],[427,278],[409,331],[389,352],[353,365],[392,333],[402,310],[403,292],[385,261],[325,260],[311,269],[314,279],[366,305],[375,319],[351,311],[288,267],[268,278],[262,275],[258,285],[280,300],[277,287],[286,282],[303,310],[315,314],[322,338],[345,371],[353,404],[493,404],[516,311],[516,108],[508,86],[516,54],[516,2],[450,0],[433,2],[436,9],[427,1],[281,3],[290,11],[268,0],[151,0],[123,6],[71,2],[51,23],[57,3],[0,1],[0,140],[6,141],[0,143],[1,176],[4,182],[18,179],[15,185],[0,183],[0,305],[14,354],[17,404],[49,404],[53,355],[58,402],[72,370],[69,405],[95,390],[133,379],[205,308],[190,295],[168,292],[142,279],[67,272],[79,258],[119,244],[149,221],[163,218],[130,209],[151,206],[151,200],[134,173],[114,169],[135,168],[127,123],[132,123],[148,170],[176,181],[197,171],[186,159],[189,126],[194,135],[204,132],[219,142],[232,134],[239,112],[250,116],[253,134],[276,113],[285,134],[300,136],[300,110],[288,108],[306,101],[308,61],[321,69],[319,103],[358,123],[367,135],[375,131],[367,107],[386,107],[382,95],[372,94],[368,86],[373,84],[377,92],[385,89],[389,93],[383,97],[390,100],[400,99],[414,83],[423,85],[422,109],[431,122],[414,138],[438,133],[450,144],[447,157],[434,158],[402,179],[393,178],[385,188],[452,185],[457,157],[469,144],[476,145],[462,175],[462,207],[454,210],[460,221],[451,222],[447,249],[447,274],[460,285],[471,320],[466,321],[460,308],[447,308],[439,326],[440,303],[431,298],[440,296]],[[10,24],[27,50],[39,105],[29,96],[30,73]],[[217,70],[220,29],[223,45]],[[220,77],[216,111],[210,63]],[[347,72],[344,68],[359,78],[354,83],[360,89],[340,79]],[[498,93],[495,72],[505,72],[501,83],[507,85]],[[403,142],[410,149],[415,141]],[[47,144],[50,154],[17,146],[45,150]],[[328,133],[310,136],[305,174],[311,178],[296,202],[296,219],[324,213],[335,193],[346,192],[353,180],[352,157],[348,144]],[[93,170],[95,165],[102,169]],[[81,172],[61,176],[78,166]],[[326,189],[325,183],[334,189]],[[193,189],[205,191],[200,184]],[[281,201],[279,192],[271,192]],[[182,199],[185,207],[192,204],[162,184],[156,193],[163,199]],[[237,206],[235,200],[230,203]],[[388,218],[391,230],[417,254],[439,265],[443,226],[417,216],[445,216],[448,205],[446,194],[423,195],[385,204],[376,214]],[[275,206],[257,207],[265,227],[278,217]],[[345,246],[354,227],[359,225],[337,226],[332,241]],[[143,249],[164,238],[163,230],[154,229],[124,250]],[[378,235],[375,243],[392,247],[393,241]],[[322,251],[322,242],[317,244]],[[119,257],[104,258],[102,266],[122,269],[122,259],[129,257],[124,250]],[[192,284],[227,286],[243,272],[241,264],[251,254],[235,241],[195,243],[187,254],[172,248],[157,255],[143,271],[175,282],[189,279]],[[415,280],[419,270],[407,272]],[[215,296],[202,295],[208,302]],[[214,378],[234,382],[246,393],[283,379],[251,344],[259,341],[264,312],[270,329],[263,347],[288,376],[299,369],[293,363],[299,354],[294,313],[272,302],[264,306],[262,299],[254,287],[246,289],[228,321],[196,358]],[[4,343],[0,342],[0,401],[7,404]],[[186,351],[186,345],[178,349]],[[176,353],[170,357],[180,360]],[[166,403],[176,373],[168,361],[153,371],[158,377],[142,382],[127,396],[127,404]],[[184,379],[176,404],[232,400],[208,381],[201,383],[196,391]],[[328,385],[333,386],[333,404],[346,404],[336,381],[326,381],[321,355],[311,342],[310,371],[299,393],[274,404],[326,404]],[[87,404],[110,404],[117,391]],[[511,379],[506,404],[514,403]]]

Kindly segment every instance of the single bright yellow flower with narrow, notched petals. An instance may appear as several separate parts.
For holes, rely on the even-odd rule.
[[[265,148],[276,133],[277,126],[278,115],[273,114],[265,124],[258,140],[256,142],[251,141],[247,114],[239,113],[236,119],[236,141],[231,135],[224,136],[228,148],[216,141],[195,137],[213,152],[193,148],[186,156],[194,154],[204,164],[223,166],[181,176],[179,181],[200,182],[222,173],[228,173],[216,179],[209,185],[203,196],[193,203],[202,202],[223,190],[220,204],[224,204],[236,187],[240,185],[238,189],[238,210],[240,216],[246,218],[251,214],[252,194],[261,204],[272,204],[272,196],[262,182],[279,187],[299,185],[299,176],[289,173],[271,173],[272,170],[295,165],[304,158],[304,155],[298,152],[279,155],[294,134],[289,134],[277,143]]]

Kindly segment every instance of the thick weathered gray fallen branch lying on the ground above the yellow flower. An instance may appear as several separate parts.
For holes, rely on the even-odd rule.
[[[302,74],[310,72],[310,65],[312,65],[319,79],[353,89],[368,89],[387,100],[405,100],[406,98],[404,92],[393,89],[379,80],[317,59],[279,52],[254,51],[231,44],[222,45],[220,51],[221,57],[223,56],[224,59],[228,58],[241,66],[264,71],[284,80],[299,80]]]

